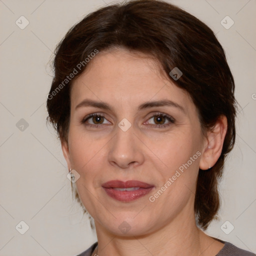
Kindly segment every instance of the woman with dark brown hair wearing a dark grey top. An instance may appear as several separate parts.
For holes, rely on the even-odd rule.
[[[90,13],[56,48],[48,120],[98,241],[79,255],[253,255],[206,235],[235,139],[214,33],[167,2]]]

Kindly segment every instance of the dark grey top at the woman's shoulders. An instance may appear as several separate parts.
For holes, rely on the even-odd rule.
[[[217,239],[217,240],[219,240],[219,239]],[[221,241],[225,245],[218,252],[218,254],[216,256],[255,256],[256,255],[250,251],[240,249],[240,248],[234,246],[230,242],[226,242],[226,241],[222,241],[222,240],[219,240],[219,241]],[[93,252],[93,250],[95,249],[97,244],[98,244],[98,242],[94,242],[87,250],[83,251],[82,253],[80,253],[77,256],[93,256],[91,253]]]

